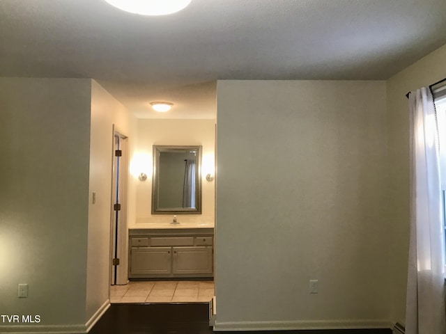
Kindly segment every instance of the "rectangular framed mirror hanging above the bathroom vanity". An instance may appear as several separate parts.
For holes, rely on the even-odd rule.
[[[201,146],[153,145],[152,214],[201,214]]]

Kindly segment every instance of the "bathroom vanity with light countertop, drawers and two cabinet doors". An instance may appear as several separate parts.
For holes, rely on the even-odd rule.
[[[130,228],[129,278],[213,278],[213,244],[208,224]]]

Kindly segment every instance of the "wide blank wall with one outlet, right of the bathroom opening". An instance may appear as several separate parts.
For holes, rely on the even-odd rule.
[[[385,99],[217,82],[217,329],[390,326]]]

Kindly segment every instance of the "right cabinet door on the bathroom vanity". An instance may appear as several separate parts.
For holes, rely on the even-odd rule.
[[[173,273],[212,273],[212,247],[173,247]]]

